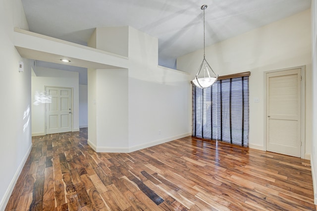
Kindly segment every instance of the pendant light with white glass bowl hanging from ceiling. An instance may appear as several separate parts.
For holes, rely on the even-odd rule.
[[[200,8],[204,11],[204,59],[198,69],[193,83],[195,86],[204,89],[211,87],[212,84],[217,81],[218,75],[213,72],[211,66],[205,58],[205,9],[207,8],[207,5],[204,4]]]

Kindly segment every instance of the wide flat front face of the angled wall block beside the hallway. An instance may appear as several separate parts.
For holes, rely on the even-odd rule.
[[[128,148],[128,70],[97,69],[97,151]]]

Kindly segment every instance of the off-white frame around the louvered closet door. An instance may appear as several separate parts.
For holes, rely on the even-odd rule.
[[[289,67],[277,70],[269,70],[264,72],[264,150],[266,149],[266,75],[267,73],[279,72],[285,70],[301,69],[301,158],[310,159],[310,156],[306,158],[306,65]]]

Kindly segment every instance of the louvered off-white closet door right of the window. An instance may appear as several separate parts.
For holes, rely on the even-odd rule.
[[[301,68],[266,74],[266,150],[301,157]]]

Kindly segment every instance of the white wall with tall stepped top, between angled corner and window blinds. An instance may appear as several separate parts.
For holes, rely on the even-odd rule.
[[[158,66],[158,39],[129,27],[129,146],[191,135],[190,78]]]

